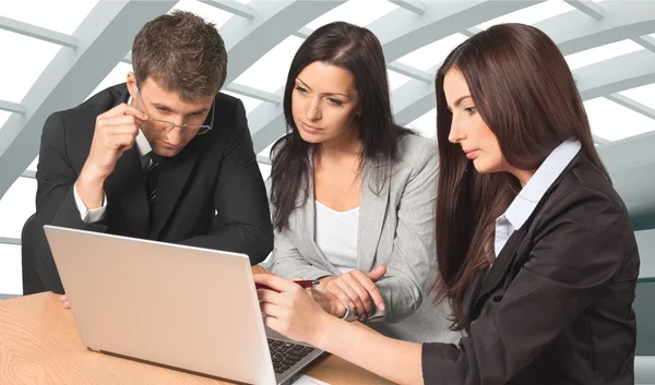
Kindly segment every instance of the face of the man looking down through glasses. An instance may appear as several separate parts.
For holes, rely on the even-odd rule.
[[[141,131],[153,152],[165,157],[179,154],[198,134],[214,101],[214,96],[182,101],[176,92],[160,87],[150,77],[138,87],[132,72],[128,74],[128,89],[132,104],[150,118]]]

